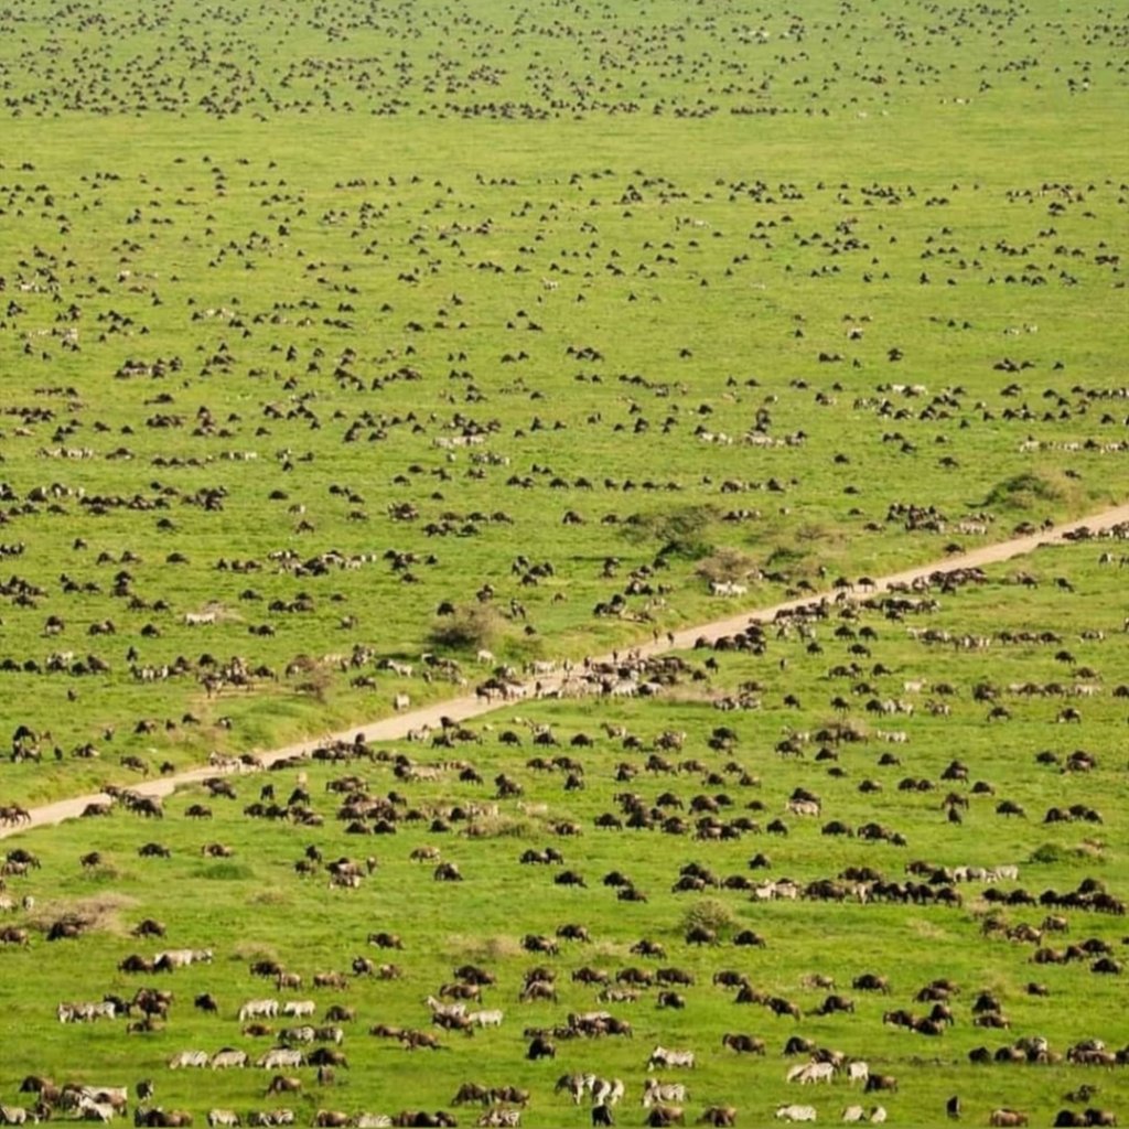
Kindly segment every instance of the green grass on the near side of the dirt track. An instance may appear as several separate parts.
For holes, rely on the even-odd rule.
[[[1019,568],[991,570],[986,583],[940,595],[939,609],[901,622],[877,611],[863,610],[857,618],[835,618],[814,625],[814,638],[795,631],[787,638],[769,633],[761,656],[720,651],[717,669],[706,668],[707,653],[685,656],[686,677],[658,702],[612,703],[539,702],[523,706],[520,718],[511,709],[500,710],[473,728],[475,742],[452,753],[406,744],[335,767],[304,764],[269,774],[279,799],[303,786],[309,807],[324,817],[321,826],[299,826],[290,821],[253,820],[244,814],[257,798],[264,777],[230,778],[234,800],[210,798],[204,789],[185,789],[166,804],[160,822],[142,820],[124,811],[103,821],[78,821],[50,833],[23,838],[42,868],[26,878],[9,879],[14,895],[37,899],[28,917],[18,912],[14,921],[30,925],[27,948],[9,946],[0,952],[5,964],[6,1044],[3,1077],[6,1100],[28,1073],[46,1073],[56,1080],[75,1078],[102,1084],[122,1084],[154,1077],[159,1103],[166,1108],[194,1110],[198,1115],[212,1105],[242,1111],[278,1104],[264,1102],[266,1073],[255,1069],[200,1073],[173,1071],[166,1064],[182,1050],[212,1053],[222,1047],[262,1053],[270,1039],[240,1034],[236,1012],[247,999],[263,996],[313,998],[318,1016],[334,1001],[357,1008],[355,1023],[345,1024],[341,1049],[348,1070],[338,1071],[334,1086],[318,1089],[308,1068],[294,1071],[305,1079],[305,1091],[289,1104],[299,1120],[308,1120],[320,1108],[394,1112],[402,1108],[449,1108],[457,1087],[467,1080],[485,1085],[518,1085],[532,1092],[525,1123],[581,1124],[585,1109],[576,1109],[567,1095],[553,1092],[558,1077],[570,1071],[594,1071],[622,1077],[628,1085],[624,1123],[638,1113],[645,1062],[651,1048],[690,1047],[699,1064],[689,1078],[690,1111],[697,1115],[712,1103],[733,1103],[742,1111],[742,1123],[763,1122],[778,1103],[813,1101],[820,1120],[837,1120],[839,1111],[856,1100],[843,1080],[830,1089],[798,1091],[785,1082],[793,1059],[781,1057],[793,1034],[813,1039],[850,1056],[864,1058],[874,1073],[899,1079],[896,1094],[875,1095],[886,1106],[891,1121],[927,1124],[944,1121],[944,1103],[960,1094],[970,1123],[984,1123],[991,1109],[1010,1105],[1025,1110],[1044,1123],[1064,1104],[1062,1095],[1083,1083],[1097,1084],[1095,1102],[1123,1112],[1129,1084],[1123,1067],[1099,1070],[1066,1062],[1049,1066],[973,1066],[968,1053],[987,1045],[995,1051],[1019,1038],[1042,1035],[1051,1049],[1064,1052],[1074,1042],[1102,1038],[1111,1047],[1126,1042],[1123,1022],[1123,972],[1102,975],[1091,971],[1092,961],[1066,965],[1032,963],[1036,945],[1006,939],[986,929],[995,910],[1000,927],[1026,924],[1041,927],[1045,907],[992,907],[984,900],[990,889],[982,882],[962,884],[963,904],[943,907],[902,905],[847,901],[758,902],[747,892],[709,887],[698,893],[676,893],[673,884],[689,863],[708,867],[718,878],[745,875],[795,879],[806,885],[835,877],[848,867],[870,867],[886,878],[902,881],[911,860],[937,866],[997,866],[1017,864],[1018,882],[997,889],[1023,887],[1035,896],[1047,889],[1073,890],[1085,878],[1097,879],[1120,896],[1124,891],[1129,841],[1129,796],[1126,794],[1124,684],[1129,672],[1129,636],[1119,631],[1113,614],[1121,590],[1114,566],[1096,563],[1097,546],[1078,545],[1048,550],[1022,562]],[[1039,580],[1031,588],[1017,583],[1021,572]],[[1052,581],[1069,578],[1074,593],[1064,594]],[[1024,593],[1016,599],[1016,592]],[[849,609],[848,609],[849,611]],[[1069,624],[1067,627],[1067,624]],[[987,648],[924,641],[916,632],[931,630],[991,639]],[[851,634],[848,634],[848,631]],[[1008,644],[1021,632],[1056,632],[1059,642]],[[1091,638],[1083,639],[1087,632]],[[1097,632],[1104,632],[1099,639]],[[857,647],[865,639],[868,655]],[[819,645],[819,649],[813,646]],[[1062,651],[1073,655],[1066,663]],[[834,676],[837,666],[863,664],[861,674]],[[881,669],[879,669],[881,667]],[[1085,668],[1089,673],[1085,673]],[[878,673],[873,673],[874,671]],[[690,677],[693,672],[704,679]],[[1121,682],[1115,682],[1117,679]],[[907,682],[925,680],[919,690],[907,691]],[[712,700],[735,692],[738,684],[755,681],[760,708],[718,711]],[[859,692],[859,684],[870,689]],[[1066,697],[1026,695],[1014,684],[1058,682],[1071,688]],[[949,691],[943,689],[949,684]],[[1078,697],[1078,684],[1097,685],[1092,697]],[[977,686],[988,685],[1010,719],[986,721],[990,703],[974,697]],[[1121,695],[1115,693],[1122,686]],[[938,689],[942,688],[942,689]],[[794,694],[799,704],[785,704]],[[849,708],[832,706],[842,694]],[[872,697],[911,702],[911,715],[895,719],[876,717],[865,709]],[[929,701],[945,702],[948,715],[933,714]],[[1082,720],[1057,724],[1058,711],[1077,703]],[[850,721],[864,739],[821,746],[802,746],[799,758],[776,752],[789,732],[814,733],[835,721]],[[551,728],[557,747],[532,743],[533,727]],[[621,725],[640,747],[625,749],[605,725]],[[732,745],[709,745],[718,726],[733,730]],[[675,764],[695,761],[697,767],[673,773],[647,771],[644,763],[665,729],[685,734],[683,750],[667,754]],[[904,741],[887,743],[882,732],[901,732]],[[516,734],[520,747],[504,739]],[[577,734],[594,739],[592,749],[572,745]],[[1066,772],[1062,765],[1076,750],[1095,760],[1089,771]],[[1054,761],[1041,763],[1036,754],[1050,752]],[[444,759],[472,764],[483,782],[460,782],[457,768],[440,772],[432,782],[412,782],[397,777],[386,756],[406,753],[419,765]],[[895,761],[883,764],[882,755]],[[539,770],[531,760],[569,755],[581,765],[585,787],[564,789],[561,770]],[[946,784],[942,777],[953,760],[969,770],[966,784]],[[1045,760],[1045,758],[1044,758]],[[633,767],[624,779],[620,765]],[[492,780],[506,773],[524,789],[519,798],[496,800]],[[747,773],[742,780],[741,773]],[[300,773],[300,776],[299,776]],[[357,837],[334,819],[340,798],[326,790],[334,778],[357,773],[374,796],[397,793],[402,820],[391,835]],[[711,778],[710,774],[714,774]],[[877,785],[864,790],[865,780]],[[908,789],[903,781],[927,781],[928,789]],[[990,791],[978,790],[978,781]],[[870,786],[867,786],[868,788]],[[822,802],[817,819],[785,812],[796,788],[815,793]],[[946,819],[943,797],[956,790],[969,799],[963,822]],[[616,812],[614,799],[623,791],[637,793],[645,806],[672,793],[681,807],[667,807],[691,825],[691,834],[659,830],[601,830],[595,819]],[[749,831],[728,841],[703,841],[692,835],[697,816],[694,797],[728,797],[719,816],[754,821],[760,832]],[[1022,806],[1025,815],[997,812],[1003,802]],[[205,804],[212,817],[186,816],[193,804]],[[453,808],[472,804],[499,805],[496,816],[464,822]],[[1102,822],[1047,824],[1052,807],[1082,804],[1095,809]],[[449,830],[437,830],[430,821],[449,816]],[[787,834],[768,832],[769,822],[782,816]],[[904,847],[864,841],[857,837],[821,833],[838,820],[852,830],[876,821],[908,840]],[[559,835],[557,821],[579,825],[577,835]],[[478,824],[481,834],[470,834]],[[169,848],[167,859],[138,856],[145,842]],[[19,840],[9,840],[15,847]],[[209,860],[201,848],[221,842],[233,855]],[[343,856],[364,859],[374,855],[377,869],[360,889],[329,890],[324,868],[306,878],[294,864],[307,847],[316,846],[326,860]],[[418,848],[439,848],[444,860],[456,863],[464,881],[434,881],[434,863],[411,859]],[[519,864],[528,848],[553,846],[563,856],[557,866]],[[96,848],[100,863],[82,867],[79,857]],[[750,869],[758,852],[768,856],[765,869]],[[578,872],[586,886],[561,886],[554,877],[563,869]],[[645,902],[623,902],[602,884],[620,870],[646,894]],[[684,922],[703,903],[720,903],[728,921],[716,946],[694,946],[684,939]],[[90,914],[97,925],[75,942],[49,943],[40,929],[67,912]],[[1124,918],[1068,911],[1067,934],[1045,933],[1041,944],[1062,948],[1096,938],[1111,947],[1114,960],[1124,963]],[[164,940],[139,940],[129,930],[142,918],[156,917],[167,927]],[[523,951],[526,934],[553,935],[566,924],[584,925],[590,943],[561,942],[559,956]],[[764,948],[733,944],[744,928],[755,929]],[[401,934],[402,951],[383,951],[366,943],[369,933],[387,929]],[[662,960],[640,959],[630,947],[640,938],[660,943]],[[215,962],[173,974],[129,975],[115,972],[131,953],[152,956],[165,947],[212,948]],[[379,980],[355,975],[357,956],[400,965],[402,979]],[[275,992],[269,981],[248,974],[252,961],[280,961],[299,972],[304,987],[297,992]],[[403,1027],[428,1027],[423,997],[448,982],[453,970],[474,962],[497,975],[487,989],[483,1006],[500,1007],[505,1021],[498,1030],[485,1030],[473,1039],[438,1032],[445,1049],[410,1052],[399,1043],[368,1034],[377,1023]],[[557,1004],[520,1004],[518,992],[526,970],[548,965],[557,977]],[[581,966],[602,969],[614,977],[629,966],[677,968],[693,977],[691,987],[679,990],[683,1010],[656,1006],[655,989],[644,990],[633,1004],[602,1005],[597,987],[572,980]],[[749,977],[769,995],[795,1001],[803,1018],[777,1018],[767,1008],[734,1003],[735,990],[711,983],[715,972],[733,969]],[[348,989],[310,989],[314,973],[347,973]],[[851,989],[851,980],[865,972],[890,978],[891,994],[878,996]],[[814,1009],[832,989],[805,987],[805,978],[822,973],[834,981],[834,990],[852,999],[854,1015],[820,1017]],[[955,1024],[939,1038],[913,1034],[883,1023],[885,1012],[909,1008],[924,1014],[928,1005],[914,1003],[925,984],[940,977],[959,986],[951,1006]],[[1032,996],[1030,982],[1042,982],[1049,995]],[[54,1006],[60,1000],[98,999],[105,992],[130,997],[140,984],[170,988],[174,1005],[167,1024],[156,1033],[126,1034],[124,1019],[94,1025],[58,1024]],[[192,999],[211,991],[219,1000],[217,1015],[194,1010]],[[983,1030],[973,1025],[973,1003],[981,991],[999,1000],[1009,1027]],[[566,1016],[606,1007],[629,1019],[633,1038],[602,1040],[558,1039],[555,1060],[528,1062],[525,1029],[563,1024]],[[279,1021],[275,1029],[283,1026]],[[292,1025],[292,1024],[291,1024]],[[438,1029],[435,1029],[438,1030]],[[741,1032],[763,1038],[764,1058],[736,1056],[721,1047],[721,1035]],[[32,1033],[21,1038],[19,1033]],[[475,1114],[476,1115],[476,1114]],[[463,1117],[466,1114],[464,1112]]]

